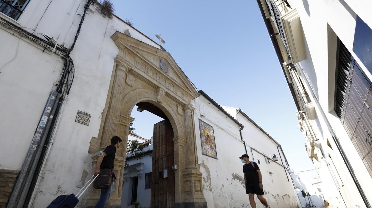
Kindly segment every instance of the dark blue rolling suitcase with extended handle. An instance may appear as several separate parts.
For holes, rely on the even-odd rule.
[[[80,191],[75,196],[73,193],[70,195],[60,195],[55,198],[52,203],[48,205],[47,208],[74,208],[77,203],[79,203],[79,198],[83,193],[89,188],[93,181],[98,177],[94,175],[88,180],[88,182],[80,189]],[[93,180],[92,180],[93,179]],[[80,195],[79,195],[80,194]]]

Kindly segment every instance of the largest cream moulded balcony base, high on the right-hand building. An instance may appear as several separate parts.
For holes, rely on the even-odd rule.
[[[302,32],[301,20],[297,9],[285,13],[280,17],[285,39],[291,54],[292,63],[298,63],[306,59],[304,34]]]

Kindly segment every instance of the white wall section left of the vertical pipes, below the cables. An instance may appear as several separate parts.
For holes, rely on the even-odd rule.
[[[0,37],[0,168],[19,170],[62,60],[2,29]]]

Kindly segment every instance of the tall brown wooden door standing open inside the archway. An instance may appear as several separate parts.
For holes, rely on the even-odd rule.
[[[154,125],[151,208],[174,207],[173,128],[168,120]]]

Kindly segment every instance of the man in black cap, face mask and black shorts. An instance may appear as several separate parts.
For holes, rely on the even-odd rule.
[[[257,163],[249,161],[249,156],[243,154],[241,157],[241,162],[244,163],[243,173],[244,173],[244,183],[246,184],[246,193],[249,196],[249,202],[252,208],[256,208],[256,202],[254,201],[254,195],[257,195],[257,198],[260,202],[265,205],[265,207],[270,208],[267,204],[265,198],[263,198],[263,185],[262,185],[262,174]]]

